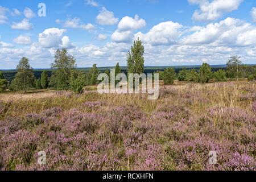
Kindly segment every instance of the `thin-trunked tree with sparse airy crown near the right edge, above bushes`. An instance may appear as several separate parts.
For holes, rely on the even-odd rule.
[[[240,59],[241,57],[235,55],[230,57],[227,63],[228,76],[231,78],[237,78],[237,81],[239,80],[239,77],[241,77],[242,75],[242,61]]]

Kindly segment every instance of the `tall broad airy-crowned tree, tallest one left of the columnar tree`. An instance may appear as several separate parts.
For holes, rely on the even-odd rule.
[[[69,89],[71,71],[76,68],[76,60],[68,54],[67,49],[57,49],[55,61],[51,64],[53,69],[50,85],[55,89]]]

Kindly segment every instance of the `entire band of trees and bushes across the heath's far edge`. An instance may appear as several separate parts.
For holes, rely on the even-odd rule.
[[[135,40],[131,50],[127,53],[127,73],[144,72],[144,46],[141,40]],[[160,80],[164,84],[174,84],[175,80],[193,81],[202,84],[210,81],[227,81],[228,78],[246,77],[249,81],[256,79],[256,67],[248,67],[243,65],[241,57],[232,56],[227,63],[228,69],[213,72],[210,65],[204,63],[200,70],[183,68],[179,73],[174,68],[167,68],[164,71],[157,71]],[[73,90],[75,93],[81,93],[86,85],[96,85],[100,71],[94,64],[89,72],[80,71],[76,65],[76,59],[70,55],[66,48],[57,49],[55,52],[55,60],[51,64],[52,76],[48,77],[47,71],[43,71],[40,78],[36,79],[27,57],[22,57],[17,65],[17,73],[14,80],[9,82],[0,72],[0,92],[5,90],[23,90],[27,92],[30,89],[47,89],[56,90]],[[119,63],[115,65],[115,76],[121,73]],[[105,71],[110,79],[110,71]],[[117,84],[117,82],[115,82]]]

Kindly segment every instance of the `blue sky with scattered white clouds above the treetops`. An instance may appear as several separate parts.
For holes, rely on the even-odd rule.
[[[141,39],[147,66],[256,64],[254,0],[0,1],[0,69],[26,56],[49,68],[58,48],[77,67],[126,65]]]

